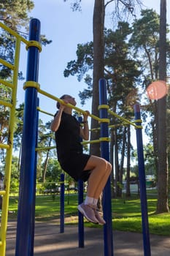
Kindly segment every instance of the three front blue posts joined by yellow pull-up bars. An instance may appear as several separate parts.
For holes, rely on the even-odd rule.
[[[30,22],[29,32],[30,44],[28,46],[28,63],[26,73],[26,83],[24,89],[25,93],[25,108],[23,116],[23,140],[22,140],[22,155],[20,167],[20,193],[18,203],[18,225],[15,256],[33,256],[34,255],[34,225],[35,225],[35,197],[36,197],[36,147],[38,138],[38,111],[39,99],[38,92],[44,94],[50,99],[63,101],[42,91],[38,84],[39,73],[39,41],[40,41],[40,21],[32,19]],[[37,44],[35,43],[37,42]],[[73,108],[72,105],[69,105]],[[74,107],[74,109],[83,113],[83,110]],[[96,118],[101,124],[101,157],[109,161],[109,119],[107,117],[107,89],[104,79],[99,80],[99,112],[100,118],[90,114],[90,117]],[[139,105],[134,107],[136,127],[136,140],[139,161],[139,185],[142,207],[142,233],[144,244],[144,256],[150,256],[150,234],[148,227],[147,216],[147,195],[146,195],[146,182],[144,174],[144,155],[142,143],[142,127]],[[117,116],[117,115],[116,115]],[[125,118],[123,119],[126,124],[132,124]],[[81,195],[82,197],[82,195]],[[82,200],[82,199],[81,199]],[[104,225],[104,256],[113,256],[113,238],[112,238],[112,207],[111,207],[111,185],[110,178],[104,188],[104,219],[107,220]]]

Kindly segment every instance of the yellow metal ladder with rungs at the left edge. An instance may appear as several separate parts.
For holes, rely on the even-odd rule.
[[[2,197],[2,208],[1,208],[1,228],[0,228],[0,255],[5,256],[6,251],[6,236],[7,236],[7,217],[9,208],[9,187],[11,178],[11,166],[12,166],[12,146],[14,137],[14,127],[15,127],[15,108],[17,102],[17,87],[18,87],[18,70],[19,70],[19,59],[20,59],[20,42],[26,43],[28,41],[20,37],[15,31],[9,29],[4,23],[0,22],[0,27],[12,34],[15,37],[15,58],[14,64],[11,64],[4,59],[0,59],[0,63],[5,67],[12,70],[12,83],[9,81],[0,79],[0,83],[12,89],[12,100],[7,102],[1,99],[0,104],[10,108],[9,111],[9,138],[7,144],[1,144],[0,148],[7,149],[6,160],[5,160],[5,170],[4,170],[4,187],[5,189],[0,191]]]

